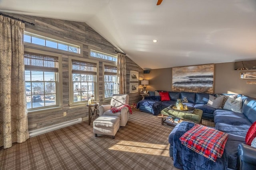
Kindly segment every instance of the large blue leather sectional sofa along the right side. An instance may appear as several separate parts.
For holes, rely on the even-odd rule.
[[[160,96],[147,96],[138,102],[137,109],[158,115],[160,111],[176,104],[177,99],[187,98],[187,106],[203,110],[203,119],[214,121],[215,128],[228,133],[228,141],[222,158],[213,162],[204,156],[186,148],[178,140],[193,123],[182,122],[172,130],[168,141],[170,143],[170,157],[174,157],[174,166],[189,170],[256,170],[256,148],[246,145],[245,137],[248,129],[256,121],[256,99],[238,94],[242,98],[242,113],[228,109],[213,108],[207,104],[209,95],[217,94],[193,92],[168,92],[170,100],[161,101]],[[223,94],[225,96],[232,94]],[[184,125],[186,123],[186,126]],[[181,127],[180,127],[181,126]]]

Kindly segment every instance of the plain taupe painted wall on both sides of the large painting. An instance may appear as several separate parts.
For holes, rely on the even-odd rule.
[[[240,72],[246,71],[256,72],[234,70],[234,62],[214,64],[214,93],[238,93],[256,98],[256,84],[246,84],[256,79],[240,80]],[[144,78],[149,80],[147,90],[172,90],[172,68],[150,70]]]

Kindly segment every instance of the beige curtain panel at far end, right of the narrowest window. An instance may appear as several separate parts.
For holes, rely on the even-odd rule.
[[[126,94],[126,59],[125,55],[117,55],[117,75],[119,83],[119,94]]]

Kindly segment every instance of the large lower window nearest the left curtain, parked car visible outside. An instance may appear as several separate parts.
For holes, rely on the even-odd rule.
[[[58,106],[58,57],[25,51],[24,64],[27,109]]]

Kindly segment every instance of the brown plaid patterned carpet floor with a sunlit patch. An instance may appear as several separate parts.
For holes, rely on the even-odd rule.
[[[9,149],[0,147],[0,170],[177,170],[169,157],[172,129],[161,125],[160,115],[133,109],[115,139],[94,137],[93,123],[84,121],[14,143]]]

